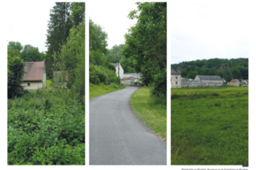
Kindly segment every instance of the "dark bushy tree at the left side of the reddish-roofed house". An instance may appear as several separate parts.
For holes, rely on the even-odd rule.
[[[8,98],[20,97],[23,94],[21,83],[24,66],[19,50],[8,50]]]

